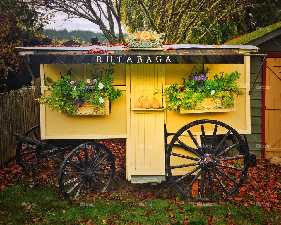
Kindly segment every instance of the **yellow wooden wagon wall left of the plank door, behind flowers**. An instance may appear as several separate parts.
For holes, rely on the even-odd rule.
[[[99,68],[107,67],[99,65]],[[73,80],[86,81],[91,77],[90,65],[41,65],[41,92],[49,94],[43,79],[49,76],[53,81],[72,69]],[[50,112],[47,106],[40,105],[42,139],[93,139],[93,138],[126,138],[126,66],[114,65],[114,85],[122,91],[122,97],[111,102],[109,116],[59,115]],[[43,122],[44,121],[44,122]]]

